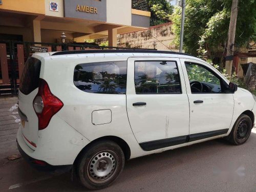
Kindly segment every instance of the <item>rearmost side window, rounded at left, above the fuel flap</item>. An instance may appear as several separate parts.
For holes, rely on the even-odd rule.
[[[88,93],[125,94],[127,61],[82,63],[75,67],[75,86]]]

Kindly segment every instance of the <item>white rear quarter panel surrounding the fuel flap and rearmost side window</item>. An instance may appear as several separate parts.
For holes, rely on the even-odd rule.
[[[43,59],[45,65],[44,69],[41,69],[40,77],[48,82],[51,92],[64,104],[56,115],[89,141],[104,136],[117,136],[129,144],[131,151],[136,154],[141,153],[142,150],[133,135],[127,117],[126,95],[87,93],[79,90],[73,82],[75,66],[80,63],[122,61],[127,60],[127,57],[102,54],[96,59],[94,54],[86,56],[80,54]],[[111,122],[93,124],[92,112],[95,110],[111,110]]]

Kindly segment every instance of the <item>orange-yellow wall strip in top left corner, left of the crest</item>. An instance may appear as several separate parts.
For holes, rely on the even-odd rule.
[[[4,0],[0,10],[45,14],[45,0]]]

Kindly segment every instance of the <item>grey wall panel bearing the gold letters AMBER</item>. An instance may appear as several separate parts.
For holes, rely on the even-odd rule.
[[[106,0],[64,0],[64,16],[106,22]]]

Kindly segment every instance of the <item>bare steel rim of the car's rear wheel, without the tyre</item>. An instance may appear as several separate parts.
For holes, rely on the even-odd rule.
[[[111,150],[95,154],[89,161],[87,175],[94,183],[105,183],[112,179],[118,168],[118,157]]]

